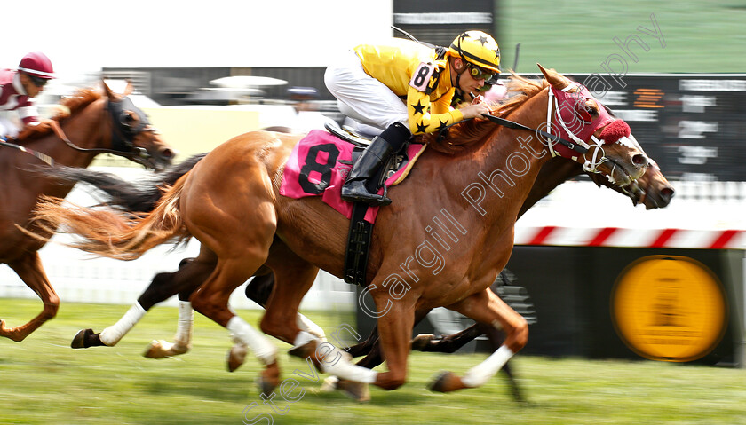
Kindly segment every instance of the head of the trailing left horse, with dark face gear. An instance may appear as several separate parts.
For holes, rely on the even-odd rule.
[[[122,156],[150,169],[163,169],[171,163],[174,151],[167,146],[158,130],[148,121],[129,96],[133,88],[128,81],[122,94],[117,94],[103,82],[107,95],[107,110],[112,119],[111,146]]]

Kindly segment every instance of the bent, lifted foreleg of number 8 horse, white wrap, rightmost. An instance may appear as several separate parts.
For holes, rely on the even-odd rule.
[[[490,324],[502,328],[505,341],[487,360],[472,367],[464,377],[446,372],[431,384],[434,391],[448,392],[464,388],[474,388],[483,385],[494,376],[513,354],[522,349],[528,341],[528,323],[520,314],[513,311],[495,293],[485,289],[479,294],[471,295],[463,301],[449,305],[449,309],[458,311],[480,323]]]

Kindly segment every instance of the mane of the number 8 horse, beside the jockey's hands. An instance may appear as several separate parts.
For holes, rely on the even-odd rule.
[[[491,114],[504,118],[511,114],[519,106],[523,105],[529,98],[533,98],[549,85],[546,80],[528,80],[513,73],[505,86],[507,87],[506,100],[500,104],[490,107]],[[448,129],[445,138],[438,139],[438,133],[430,133],[420,136],[418,143],[426,143],[430,148],[440,153],[456,153],[464,149],[464,146],[472,145],[485,137],[486,133],[495,130],[496,124],[488,121],[469,120],[458,122]]]

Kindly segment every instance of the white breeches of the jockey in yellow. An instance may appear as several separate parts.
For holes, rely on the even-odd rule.
[[[365,73],[353,51],[327,67],[324,83],[342,114],[381,130],[394,122],[409,129],[407,106],[384,83]]]

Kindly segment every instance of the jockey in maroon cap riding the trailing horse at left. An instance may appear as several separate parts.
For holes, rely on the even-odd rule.
[[[38,124],[38,111],[32,98],[52,78],[52,62],[40,52],[28,53],[20,59],[18,70],[0,69],[0,112],[15,110],[24,126]],[[15,122],[0,116],[0,138],[15,138],[19,130]]]

